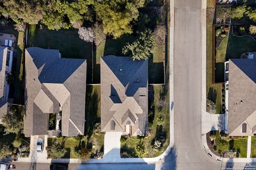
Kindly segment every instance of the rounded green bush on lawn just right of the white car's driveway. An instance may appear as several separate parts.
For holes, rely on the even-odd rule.
[[[62,158],[66,153],[67,150],[62,145],[60,145],[60,141],[55,140],[52,146],[47,146],[47,157],[53,159]]]

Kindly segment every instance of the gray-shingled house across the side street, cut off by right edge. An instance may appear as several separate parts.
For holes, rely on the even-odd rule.
[[[256,133],[256,57],[230,59],[225,71],[228,134],[252,136]]]

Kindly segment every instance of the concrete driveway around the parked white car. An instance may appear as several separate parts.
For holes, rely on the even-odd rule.
[[[42,138],[43,139],[43,152],[42,153],[37,153],[37,139]],[[30,153],[29,153],[29,158],[31,159],[31,162],[36,162],[37,158],[47,158],[47,135],[31,135],[30,136]]]

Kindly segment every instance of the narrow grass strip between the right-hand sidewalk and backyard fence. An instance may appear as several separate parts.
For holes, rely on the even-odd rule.
[[[210,4],[209,1],[207,3]],[[214,84],[212,82],[212,20],[213,16],[209,14],[207,9],[206,19],[206,94],[207,98],[215,102],[216,113],[221,113],[221,84]],[[214,95],[212,95],[212,92]],[[214,96],[209,97],[209,96]]]

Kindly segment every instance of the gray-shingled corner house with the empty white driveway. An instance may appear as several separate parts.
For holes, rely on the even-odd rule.
[[[148,61],[101,57],[101,131],[143,136],[148,126]]]

